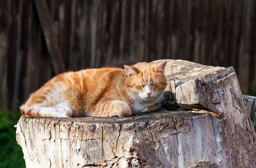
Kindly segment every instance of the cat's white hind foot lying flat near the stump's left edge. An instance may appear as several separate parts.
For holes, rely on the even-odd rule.
[[[22,105],[20,107],[21,114],[24,117],[54,117],[54,118],[69,118],[72,116],[72,110],[65,107],[28,107],[26,105]]]

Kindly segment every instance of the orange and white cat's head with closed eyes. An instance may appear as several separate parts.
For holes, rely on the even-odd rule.
[[[166,87],[165,66],[166,61],[156,65],[143,62],[124,66],[127,94],[138,102],[153,101],[160,97]]]

